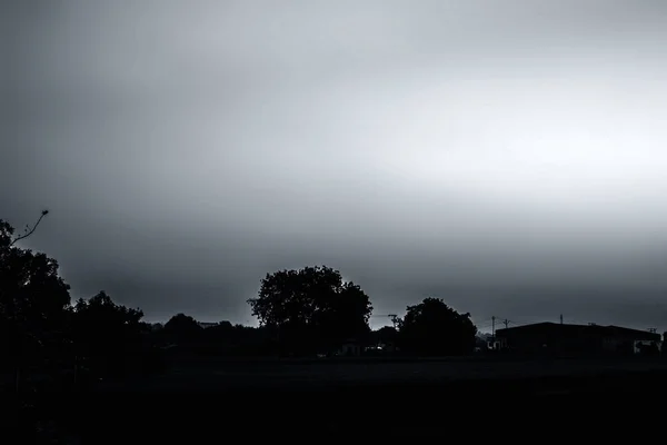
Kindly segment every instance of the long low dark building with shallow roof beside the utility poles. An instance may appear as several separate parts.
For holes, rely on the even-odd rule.
[[[538,323],[496,330],[509,350],[547,355],[631,355],[659,350],[661,336],[619,326]]]

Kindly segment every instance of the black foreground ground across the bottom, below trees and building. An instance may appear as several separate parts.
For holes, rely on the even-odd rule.
[[[199,364],[131,386],[23,399],[32,407],[12,411],[4,426],[26,437],[41,419],[42,438],[86,444],[560,434],[618,441],[621,433],[663,436],[666,402],[661,360]],[[17,403],[6,398],[4,406]]]

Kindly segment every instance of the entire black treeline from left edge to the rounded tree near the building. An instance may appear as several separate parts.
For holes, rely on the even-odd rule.
[[[368,295],[326,266],[267,274],[248,300],[258,328],[229,322],[203,328],[185,314],[163,326],[148,324],[141,309],[118,305],[104,291],[72,304],[58,261],[17,246],[46,215],[21,236],[0,220],[4,385],[81,386],[159,372],[179,357],[461,355],[475,347],[470,315],[436,298],[407,307],[395,327],[371,332]]]

